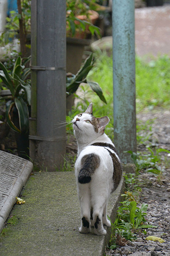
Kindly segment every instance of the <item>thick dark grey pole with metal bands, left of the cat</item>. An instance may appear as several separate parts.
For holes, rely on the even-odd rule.
[[[41,168],[61,167],[66,114],[66,4],[63,0],[31,1],[32,102],[30,157]]]

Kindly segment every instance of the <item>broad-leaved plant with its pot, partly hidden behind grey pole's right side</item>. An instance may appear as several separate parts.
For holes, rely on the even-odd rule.
[[[89,57],[86,58],[84,64],[82,65],[81,69],[79,69],[79,71],[76,73],[76,75],[73,75],[72,73],[67,73],[67,113],[69,110],[71,110],[71,106],[74,104],[74,93],[77,91],[81,83],[87,83],[91,87],[92,91],[94,91],[99,96],[99,98],[107,104],[102,92],[102,88],[99,86],[99,84],[93,81],[89,81],[86,78],[89,71],[93,68],[94,62],[95,59],[93,58],[93,53],[91,53]]]

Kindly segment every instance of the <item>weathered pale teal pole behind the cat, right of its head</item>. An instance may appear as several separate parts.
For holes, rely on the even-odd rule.
[[[114,143],[123,163],[136,152],[135,3],[112,0]]]

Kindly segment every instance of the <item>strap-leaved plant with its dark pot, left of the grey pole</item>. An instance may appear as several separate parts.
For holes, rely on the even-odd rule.
[[[18,56],[13,66],[12,73],[0,62],[0,78],[10,96],[4,96],[6,102],[6,119],[8,125],[16,132],[18,155],[27,158],[29,155],[29,109],[31,104],[31,84],[28,76],[30,68],[26,68],[28,58]]]

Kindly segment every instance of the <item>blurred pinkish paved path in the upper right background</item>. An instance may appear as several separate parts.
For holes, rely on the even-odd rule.
[[[137,55],[170,55],[170,4],[135,9]]]

